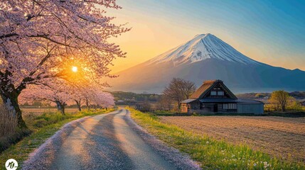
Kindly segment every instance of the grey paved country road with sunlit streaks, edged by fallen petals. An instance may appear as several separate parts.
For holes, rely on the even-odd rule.
[[[127,110],[119,110],[78,123],[59,146],[53,144],[45,149],[45,153],[41,153],[50,161],[44,164],[43,168],[185,169],[175,165],[175,161],[166,159],[162,153],[145,142],[139,132],[131,127],[131,120],[126,118],[127,113]],[[39,162],[36,160],[35,163],[29,164],[37,163]],[[33,166],[25,164],[25,169],[31,168]]]

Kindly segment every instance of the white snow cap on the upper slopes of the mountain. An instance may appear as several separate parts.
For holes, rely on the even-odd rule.
[[[149,60],[149,64],[173,62],[173,64],[179,65],[200,62],[207,59],[239,62],[242,64],[260,64],[242,55],[242,53],[235,50],[232,46],[210,33],[196,35],[195,38],[185,44]]]

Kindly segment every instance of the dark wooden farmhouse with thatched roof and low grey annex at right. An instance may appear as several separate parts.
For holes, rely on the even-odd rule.
[[[181,102],[183,113],[264,113],[264,103],[240,100],[221,80],[203,81],[190,98]]]

